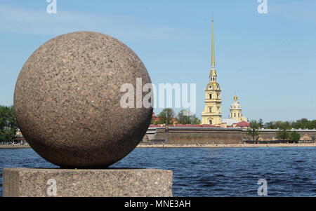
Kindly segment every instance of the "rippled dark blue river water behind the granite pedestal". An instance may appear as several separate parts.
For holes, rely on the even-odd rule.
[[[316,196],[316,148],[135,149],[113,168],[173,170],[173,196]],[[2,168],[56,168],[32,149],[0,149]]]

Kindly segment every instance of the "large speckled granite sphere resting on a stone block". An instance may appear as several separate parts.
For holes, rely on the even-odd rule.
[[[136,89],[137,78],[151,83],[136,53],[111,36],[73,32],[51,39],[25,62],[15,85],[22,135],[55,165],[112,165],[135,149],[150,125],[151,107],[120,104],[121,86]]]

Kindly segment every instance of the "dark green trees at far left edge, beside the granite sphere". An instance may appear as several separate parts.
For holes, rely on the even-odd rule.
[[[15,120],[13,106],[0,105],[0,142],[11,141],[18,129],[18,123]]]

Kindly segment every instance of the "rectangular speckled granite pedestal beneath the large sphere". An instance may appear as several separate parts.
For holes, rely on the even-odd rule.
[[[4,197],[169,197],[173,172],[152,169],[3,170]]]

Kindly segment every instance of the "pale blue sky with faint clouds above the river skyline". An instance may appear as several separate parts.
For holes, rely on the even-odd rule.
[[[227,117],[237,91],[244,116],[316,119],[316,1],[0,0],[0,104],[13,104],[22,65],[42,43],[89,30],[109,34],[143,60],[153,83],[197,83],[204,108],[214,13],[216,67]],[[161,109],[156,109],[159,112]]]

